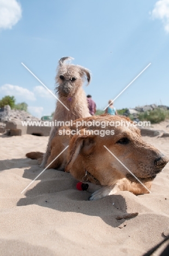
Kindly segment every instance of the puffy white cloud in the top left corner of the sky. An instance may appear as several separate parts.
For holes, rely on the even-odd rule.
[[[0,0],[0,28],[13,27],[22,16],[22,9],[16,0]]]

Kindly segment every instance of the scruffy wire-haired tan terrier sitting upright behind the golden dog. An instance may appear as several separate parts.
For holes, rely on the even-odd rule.
[[[87,68],[79,65],[67,63],[72,57],[63,57],[59,60],[56,74],[56,92],[59,101],[56,103],[53,120],[70,121],[78,118],[90,117],[85,91],[82,89],[83,83],[87,79],[90,83],[90,73]],[[65,106],[69,109],[65,108]],[[62,126],[62,125],[61,125]],[[43,156],[41,167],[45,167],[50,156],[51,141],[55,137],[59,126],[51,128],[49,142],[46,153]]]

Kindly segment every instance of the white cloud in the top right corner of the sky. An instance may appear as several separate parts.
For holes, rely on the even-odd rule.
[[[169,33],[169,0],[160,0],[156,2],[154,9],[150,14],[153,19],[162,20],[165,31]]]

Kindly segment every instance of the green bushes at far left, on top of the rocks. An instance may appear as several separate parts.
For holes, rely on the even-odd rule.
[[[11,109],[19,109],[19,110],[25,110],[28,111],[28,104],[25,102],[17,103],[15,104],[15,97],[14,96],[4,96],[0,100],[0,108],[3,108],[5,105],[9,105]]]

